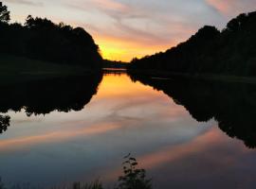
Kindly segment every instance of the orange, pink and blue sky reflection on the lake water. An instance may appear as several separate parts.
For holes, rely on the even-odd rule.
[[[155,188],[254,188],[255,150],[126,75],[104,76],[80,112],[8,114],[11,126],[0,135],[5,183],[100,179],[112,186],[131,152]]]

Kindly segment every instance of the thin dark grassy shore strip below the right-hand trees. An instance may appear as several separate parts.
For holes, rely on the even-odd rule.
[[[256,84],[256,77],[240,77],[240,76],[224,76],[224,75],[212,75],[212,74],[185,74],[185,73],[171,73],[165,71],[137,71],[129,70],[131,74],[137,74],[146,77],[162,77],[162,78],[172,78],[172,77],[183,77],[183,78],[193,78],[193,79],[203,79],[203,80],[217,80],[223,82],[239,82],[239,83],[250,83]]]

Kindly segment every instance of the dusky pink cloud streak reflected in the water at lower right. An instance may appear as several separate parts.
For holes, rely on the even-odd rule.
[[[190,157],[202,155],[204,157],[201,158],[204,160],[207,159],[212,163],[217,163],[217,166],[228,167],[237,163],[235,154],[247,154],[252,151],[243,146],[241,142],[237,142],[235,154],[233,149],[229,149],[232,153],[228,154],[229,150],[227,153],[224,152],[225,155],[222,154],[223,156],[218,157],[221,161],[216,159],[214,154],[210,152],[208,153],[208,151],[215,151],[215,149],[217,149],[218,152],[221,152],[221,148],[219,148],[219,146],[229,148],[229,146],[227,146],[229,141],[230,139],[225,137],[224,134],[215,126],[206,130],[201,135],[195,136],[191,141],[188,141],[185,144],[165,146],[152,153],[140,155],[137,157],[137,162],[139,163],[139,167],[145,168],[149,173],[160,167],[172,167],[175,166],[174,164],[176,162],[182,163],[183,161],[189,160]],[[198,159],[200,161],[200,157]],[[198,167],[198,169],[200,169],[200,167]],[[108,170],[108,174],[104,174],[107,176],[103,177],[103,180],[116,180],[120,174],[120,169]],[[165,179],[168,180],[168,178]]]

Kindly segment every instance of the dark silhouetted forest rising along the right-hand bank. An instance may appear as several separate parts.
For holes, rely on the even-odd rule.
[[[256,12],[232,19],[222,31],[204,26],[164,53],[134,59],[133,71],[256,76]]]

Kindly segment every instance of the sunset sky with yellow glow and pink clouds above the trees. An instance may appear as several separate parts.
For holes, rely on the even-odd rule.
[[[230,18],[256,9],[256,0],[6,0],[12,21],[28,14],[82,26],[103,58],[129,61],[164,51],[199,27],[222,29]]]

